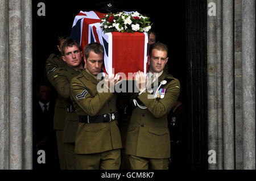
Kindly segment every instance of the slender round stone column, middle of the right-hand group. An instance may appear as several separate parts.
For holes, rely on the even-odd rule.
[[[222,3],[224,169],[234,169],[234,2]]]

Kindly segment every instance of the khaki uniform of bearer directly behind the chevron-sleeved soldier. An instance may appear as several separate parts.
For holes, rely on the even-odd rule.
[[[72,101],[70,100],[70,82],[73,77],[79,75],[81,70],[75,70],[69,66],[66,68],[58,68],[54,71],[53,81],[55,88],[61,98],[64,106],[68,107],[65,114],[65,127],[63,132],[65,162],[67,169],[76,169],[75,162],[75,137],[78,127],[78,115],[75,110],[71,110]]]

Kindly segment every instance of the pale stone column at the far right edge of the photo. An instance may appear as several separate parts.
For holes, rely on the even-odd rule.
[[[255,0],[242,0],[243,169],[255,169]]]

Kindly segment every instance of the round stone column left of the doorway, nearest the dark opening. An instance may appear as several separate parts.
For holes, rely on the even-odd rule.
[[[32,1],[22,1],[23,12],[23,169],[32,169]]]

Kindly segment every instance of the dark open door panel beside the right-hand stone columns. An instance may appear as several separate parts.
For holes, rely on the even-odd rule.
[[[191,169],[207,169],[207,1],[186,1],[186,36]]]

